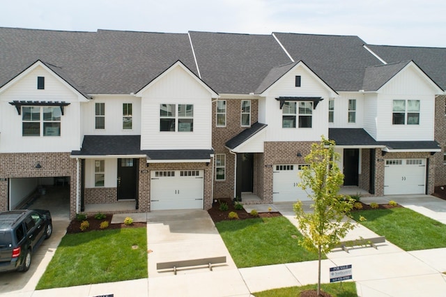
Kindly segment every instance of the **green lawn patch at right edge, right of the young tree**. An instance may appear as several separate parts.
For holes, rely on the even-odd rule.
[[[409,208],[353,211],[351,214],[357,222],[403,250],[446,248],[446,225]],[[361,215],[367,220],[361,222]]]

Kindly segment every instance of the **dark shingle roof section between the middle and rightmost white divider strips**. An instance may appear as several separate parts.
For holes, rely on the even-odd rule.
[[[365,68],[382,64],[357,36],[273,34],[294,61],[305,62],[335,91],[359,91]]]

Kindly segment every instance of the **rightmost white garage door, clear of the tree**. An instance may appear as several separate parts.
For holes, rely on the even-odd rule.
[[[426,159],[385,160],[384,195],[426,193]]]

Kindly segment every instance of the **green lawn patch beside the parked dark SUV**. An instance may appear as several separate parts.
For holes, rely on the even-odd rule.
[[[89,231],[62,238],[36,289],[144,277],[148,277],[146,228]]]

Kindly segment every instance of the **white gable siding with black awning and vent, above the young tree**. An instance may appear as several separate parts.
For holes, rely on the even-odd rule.
[[[301,86],[295,86],[295,75],[300,75]],[[282,109],[278,97],[322,97],[312,114],[312,128],[282,128]],[[273,85],[265,100],[259,100],[259,119],[268,124],[266,141],[318,141],[321,135],[328,137],[328,99],[326,86],[302,66],[291,70]],[[263,114],[260,114],[260,113]],[[296,123],[296,127],[298,123]]]

